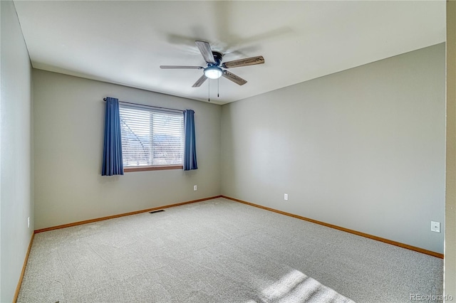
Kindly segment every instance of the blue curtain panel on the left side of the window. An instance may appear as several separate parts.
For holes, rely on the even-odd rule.
[[[107,97],[101,176],[113,175],[123,175],[122,137],[120,135],[119,100]]]

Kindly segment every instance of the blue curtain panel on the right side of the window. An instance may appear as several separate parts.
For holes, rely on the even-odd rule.
[[[184,111],[184,170],[198,169],[197,166],[197,144],[195,142],[195,112]]]

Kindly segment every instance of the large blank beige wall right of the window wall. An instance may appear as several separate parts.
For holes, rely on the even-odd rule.
[[[223,105],[222,194],[443,252],[445,44]]]

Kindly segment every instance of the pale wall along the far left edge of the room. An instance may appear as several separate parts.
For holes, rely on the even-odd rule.
[[[33,233],[31,65],[14,3],[0,7],[0,302],[11,302]]]

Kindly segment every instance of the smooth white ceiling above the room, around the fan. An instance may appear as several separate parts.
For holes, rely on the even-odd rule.
[[[248,81],[210,80],[224,104],[445,41],[445,1],[14,1],[33,68],[207,102],[195,40]]]

